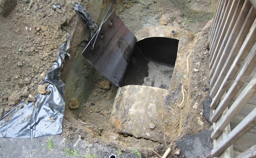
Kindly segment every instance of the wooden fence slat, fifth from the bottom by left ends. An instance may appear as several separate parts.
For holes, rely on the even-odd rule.
[[[253,47],[253,45],[255,43],[254,38],[252,37],[251,40],[247,41],[247,42],[253,42],[253,43],[245,42],[245,40],[246,40],[245,38],[246,38],[248,32],[251,29],[251,25],[255,21],[255,17],[256,17],[256,10],[253,8],[253,6],[251,6],[249,14],[245,19],[246,23],[244,23],[244,25],[242,26],[241,31],[240,31],[238,37],[235,40],[234,46],[232,47],[232,50],[229,53],[229,57],[224,62],[224,66],[219,67],[219,69],[216,69],[216,71],[213,74],[213,78],[211,79],[211,82],[210,82],[211,86],[213,86],[213,89],[211,90],[211,93],[210,93],[210,96],[212,98],[213,98],[213,96],[216,95],[217,91],[219,90],[220,86],[222,85],[226,74],[229,72],[230,66],[234,62],[234,59],[236,58],[236,55],[241,51],[241,48],[242,48],[241,46],[246,43],[246,44],[248,44],[248,46],[250,45],[250,50]],[[252,27],[255,27],[255,24]],[[250,32],[249,32],[249,34],[250,34]],[[253,36],[253,35],[251,35],[251,36]],[[246,50],[248,50],[248,48],[246,48]],[[248,50],[248,52],[246,52],[246,53],[249,53],[250,50]],[[221,64],[219,64],[219,65],[221,65]],[[220,70],[221,70],[221,72],[218,74],[218,72]]]

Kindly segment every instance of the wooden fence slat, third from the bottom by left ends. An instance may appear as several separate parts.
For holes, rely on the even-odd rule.
[[[219,116],[223,113],[223,111],[228,107],[230,102],[233,100],[235,95],[239,92],[241,87],[244,85],[246,79],[250,76],[251,72],[256,67],[256,48],[254,49],[254,53],[251,53],[250,58],[246,61],[245,65],[241,69],[240,73],[235,79],[235,82],[230,87],[228,93],[225,95],[223,100],[220,101],[219,105],[217,106],[211,121],[216,122]]]

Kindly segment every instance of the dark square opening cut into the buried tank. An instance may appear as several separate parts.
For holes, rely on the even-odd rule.
[[[179,40],[150,37],[136,43],[122,85],[149,85],[168,89],[175,66]]]

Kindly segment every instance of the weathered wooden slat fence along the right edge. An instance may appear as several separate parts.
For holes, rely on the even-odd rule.
[[[219,0],[207,47],[212,156],[256,157],[256,0]]]

